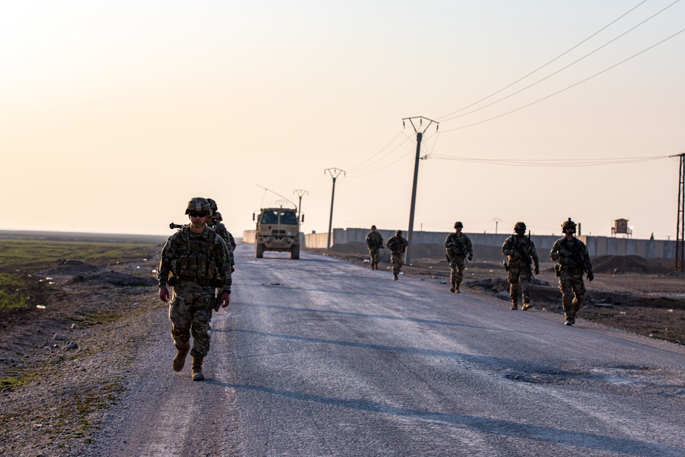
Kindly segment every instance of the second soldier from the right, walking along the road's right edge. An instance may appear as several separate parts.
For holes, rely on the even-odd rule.
[[[510,284],[509,297],[512,300],[512,310],[519,307],[519,281],[521,281],[521,298],[523,298],[521,309],[525,311],[532,308],[528,290],[532,275],[540,273],[540,261],[530,236],[525,237],[525,223],[517,222],[514,225],[514,235],[507,238],[502,245],[502,254],[508,256],[509,260],[509,263],[505,262],[504,266],[508,272],[507,281]],[[531,271],[531,263],[535,264],[533,271]]]

